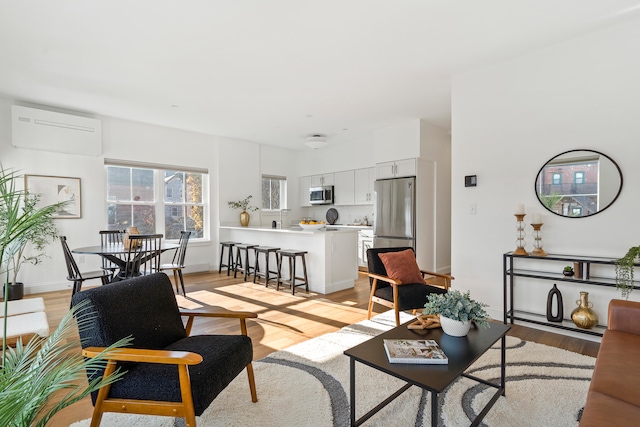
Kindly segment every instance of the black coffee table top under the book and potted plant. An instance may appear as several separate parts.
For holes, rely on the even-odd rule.
[[[472,326],[466,337],[452,337],[442,332],[440,328],[415,330],[408,329],[405,323],[346,350],[344,354],[408,383],[440,393],[493,344],[505,336],[509,329],[511,327],[503,323],[489,322],[487,328]],[[449,358],[449,363],[447,365],[390,363],[382,344],[384,339],[435,340]]]

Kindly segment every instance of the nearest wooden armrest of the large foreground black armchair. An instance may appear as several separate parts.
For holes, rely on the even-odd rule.
[[[105,347],[87,347],[84,357],[94,358],[102,354]],[[105,359],[117,362],[161,363],[165,365],[197,365],[202,356],[188,351],[149,350],[142,348],[118,348],[104,353]]]

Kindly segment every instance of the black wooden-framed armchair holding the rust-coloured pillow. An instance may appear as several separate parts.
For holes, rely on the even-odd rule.
[[[413,267],[416,269],[417,274],[422,276],[423,280],[426,279],[428,283],[403,283],[397,278],[389,277],[390,275],[387,274],[387,269],[382,259],[380,259],[380,254],[405,250],[410,250],[415,260],[415,254],[410,247],[371,248],[367,250],[368,275],[371,286],[367,319],[371,319],[373,304],[377,303],[394,309],[396,325],[399,325],[400,311],[413,310],[415,313],[416,310],[424,308],[429,294],[442,294],[451,287],[452,276],[420,270],[415,262]]]

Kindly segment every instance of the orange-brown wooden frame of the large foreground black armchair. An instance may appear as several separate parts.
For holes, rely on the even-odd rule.
[[[240,330],[242,335],[247,335],[246,319],[257,318],[256,313],[240,311],[203,311],[203,310],[181,310],[180,315],[187,317],[185,330],[187,335],[191,334],[193,322],[196,317],[219,317],[236,318],[240,320]],[[85,357],[96,357],[104,347],[87,347],[82,350]],[[167,350],[147,350],[136,348],[117,349],[107,353],[107,367],[104,376],[107,376],[116,368],[116,362],[138,362],[138,363],[162,363],[178,366],[180,391],[182,402],[161,402],[150,400],[134,399],[111,399],[108,397],[110,385],[102,387],[98,391],[98,397],[93,408],[91,427],[98,427],[105,412],[119,412],[130,414],[164,415],[170,417],[181,417],[185,419],[187,427],[196,427],[196,415],[193,409],[193,395],[191,393],[191,379],[189,377],[189,365],[197,365],[202,362],[202,356],[197,353],[185,351]],[[125,374],[126,375],[126,374]],[[249,378],[249,389],[251,391],[251,401],[257,402],[256,384],[253,376],[253,366],[247,365],[247,376]]]

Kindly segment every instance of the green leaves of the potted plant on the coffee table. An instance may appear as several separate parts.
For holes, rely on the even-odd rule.
[[[484,309],[488,305],[472,300],[469,291],[464,294],[458,290],[431,294],[424,307],[424,314],[439,314],[460,322],[473,321],[478,326],[488,325],[489,314]]]

